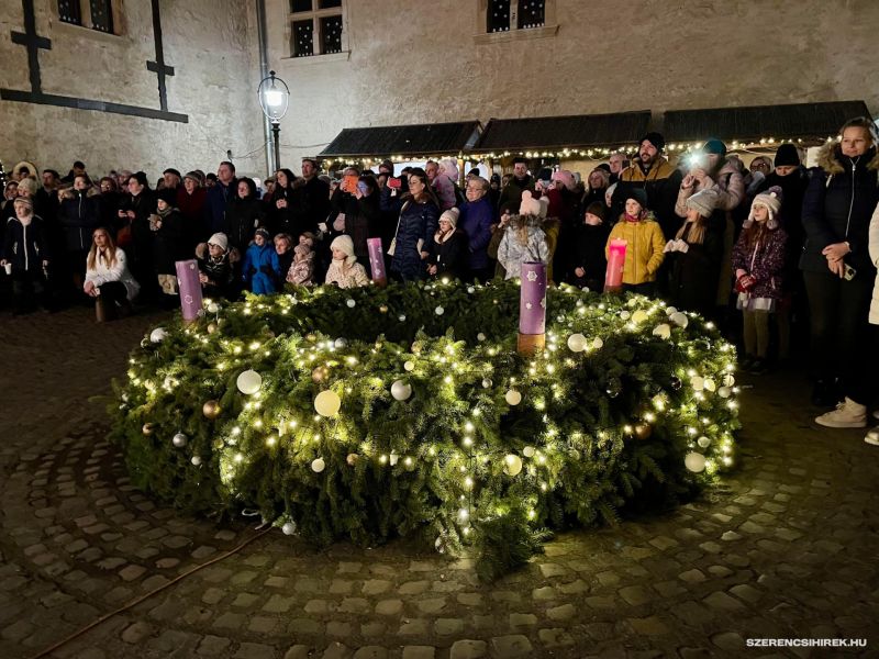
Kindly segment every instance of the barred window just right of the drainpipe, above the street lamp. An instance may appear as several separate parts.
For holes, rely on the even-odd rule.
[[[290,0],[293,57],[343,53],[343,0]]]

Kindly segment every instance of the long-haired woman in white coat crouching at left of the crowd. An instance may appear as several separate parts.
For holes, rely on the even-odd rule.
[[[131,311],[131,301],[141,290],[141,286],[129,271],[125,252],[115,246],[112,236],[102,226],[91,234],[91,249],[86,258],[86,282],[82,290],[94,298],[99,323],[116,309],[122,313]]]

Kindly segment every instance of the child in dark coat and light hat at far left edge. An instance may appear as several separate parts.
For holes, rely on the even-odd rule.
[[[12,276],[12,313],[19,315],[26,311],[31,304],[29,293],[48,310],[46,268],[49,253],[43,219],[34,215],[30,197],[16,197],[13,208],[15,216],[5,223],[3,249],[0,252],[0,266]]]

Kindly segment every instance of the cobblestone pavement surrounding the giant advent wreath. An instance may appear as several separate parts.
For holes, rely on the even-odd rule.
[[[256,532],[135,491],[101,402],[160,315],[0,320],[0,657],[34,657]],[[568,533],[480,584],[404,543],[318,552],[272,530],[52,657],[879,657],[879,449],[819,431],[801,380],[743,401],[742,468],[690,505]],[[866,638],[857,650],[747,638]]]

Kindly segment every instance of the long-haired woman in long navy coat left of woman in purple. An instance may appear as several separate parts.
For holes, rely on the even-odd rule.
[[[429,241],[438,227],[439,202],[431,189],[427,174],[421,167],[409,172],[409,192],[392,197],[396,190],[385,188],[381,210],[399,213],[397,232],[391,241],[391,272],[403,281],[418,281],[427,273]]]

